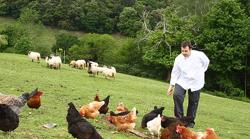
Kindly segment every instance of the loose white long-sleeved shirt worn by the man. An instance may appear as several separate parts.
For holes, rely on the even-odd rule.
[[[209,65],[208,57],[201,51],[191,50],[188,57],[179,54],[174,61],[170,85],[179,84],[191,91],[200,90],[205,84],[205,71]]]

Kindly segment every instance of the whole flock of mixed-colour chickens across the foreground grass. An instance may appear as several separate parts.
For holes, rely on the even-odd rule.
[[[41,106],[40,97],[43,92],[36,88],[30,93],[21,96],[10,96],[0,93],[0,130],[9,132],[15,130],[19,125],[19,114],[21,108],[27,103],[29,108]],[[136,126],[138,111],[134,107],[128,110],[123,103],[119,103],[115,111],[109,111],[110,96],[100,100],[97,94],[94,101],[83,105],[79,111],[75,105],[68,103],[68,132],[77,139],[102,139],[95,127],[87,119],[95,119],[100,114],[106,116],[106,120],[113,124],[118,131],[133,130]],[[194,132],[186,128],[191,120],[189,117],[181,119],[164,116],[164,107],[154,107],[152,111],[145,114],[141,121],[141,127],[147,128],[152,136],[160,139],[217,139],[213,128],[207,128],[205,132]]]

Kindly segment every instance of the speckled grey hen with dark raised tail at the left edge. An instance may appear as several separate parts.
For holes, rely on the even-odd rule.
[[[16,114],[19,115],[21,112],[21,107],[23,107],[28,99],[32,97],[35,92],[37,92],[37,88],[31,93],[23,93],[21,96],[10,96],[0,94],[0,104],[8,105]]]

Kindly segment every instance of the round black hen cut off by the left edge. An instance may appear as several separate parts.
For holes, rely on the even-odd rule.
[[[8,105],[0,104],[0,130],[13,131],[18,125],[18,115]]]

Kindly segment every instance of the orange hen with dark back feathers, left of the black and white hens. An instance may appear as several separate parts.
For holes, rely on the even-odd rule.
[[[114,113],[110,111],[110,116],[107,118],[110,123],[114,124],[118,131],[134,129],[136,125],[136,108],[131,111]]]

